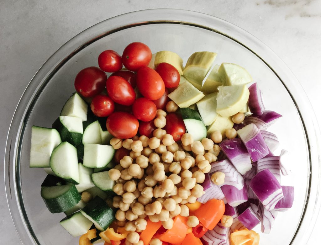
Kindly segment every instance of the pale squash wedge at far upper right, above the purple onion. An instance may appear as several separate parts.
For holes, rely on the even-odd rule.
[[[218,72],[224,86],[247,84],[252,82],[252,77],[247,70],[236,64],[222,63]]]

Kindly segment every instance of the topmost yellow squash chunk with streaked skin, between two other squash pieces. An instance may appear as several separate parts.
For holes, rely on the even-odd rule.
[[[216,53],[207,51],[195,52],[187,60],[184,76],[189,81],[202,85],[206,74],[213,65],[216,55]]]

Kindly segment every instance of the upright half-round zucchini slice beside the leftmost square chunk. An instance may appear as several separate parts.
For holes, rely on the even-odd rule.
[[[79,184],[77,149],[68,142],[59,144],[50,157],[50,168],[66,181]]]

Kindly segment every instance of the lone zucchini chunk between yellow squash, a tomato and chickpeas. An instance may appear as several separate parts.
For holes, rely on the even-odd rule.
[[[180,112],[187,129],[187,132],[193,136],[193,139],[201,141],[206,137],[206,127],[200,114],[193,109],[181,108]]]

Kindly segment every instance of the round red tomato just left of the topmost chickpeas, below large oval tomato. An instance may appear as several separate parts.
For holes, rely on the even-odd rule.
[[[133,104],[133,114],[141,121],[148,122],[156,116],[156,105],[153,101],[146,98],[139,98]]]

